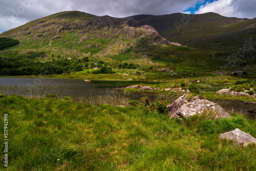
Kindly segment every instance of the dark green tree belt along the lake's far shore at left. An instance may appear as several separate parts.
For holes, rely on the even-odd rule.
[[[99,68],[92,71],[93,74],[113,74],[114,68],[119,69],[138,69],[139,65],[133,63],[123,63],[120,65],[109,65],[104,61],[89,62],[88,58],[78,60],[68,60],[67,58],[52,59],[52,61],[40,62],[32,58],[9,57],[0,58],[0,75],[1,76],[21,76],[21,75],[53,75],[62,73],[71,73],[83,71],[84,69]]]

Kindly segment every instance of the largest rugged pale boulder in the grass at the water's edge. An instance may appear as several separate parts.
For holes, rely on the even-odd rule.
[[[187,101],[187,95],[181,96],[168,107],[168,114],[172,118],[189,118],[193,115],[200,115],[203,112],[209,111],[213,112],[215,118],[230,117],[217,103],[199,97],[194,97],[190,101]]]

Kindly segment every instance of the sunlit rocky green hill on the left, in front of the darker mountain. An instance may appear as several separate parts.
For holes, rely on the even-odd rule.
[[[44,52],[61,56],[84,53],[99,56],[118,54],[139,44],[171,44],[151,26],[137,20],[95,16],[79,11],[66,11],[29,22],[0,34],[18,39],[19,54]],[[15,51],[14,51],[15,54]]]

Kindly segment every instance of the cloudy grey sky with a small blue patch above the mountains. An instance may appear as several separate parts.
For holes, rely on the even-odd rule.
[[[113,17],[216,12],[227,17],[255,18],[255,7],[255,0],[0,0],[0,33],[62,11]]]

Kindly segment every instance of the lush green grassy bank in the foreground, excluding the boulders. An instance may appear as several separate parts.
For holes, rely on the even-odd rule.
[[[70,99],[0,96],[1,164],[5,170],[255,170],[256,145],[219,134],[239,128],[256,137],[241,115],[170,119],[143,107],[87,105]],[[8,114],[8,168],[3,164]]]

